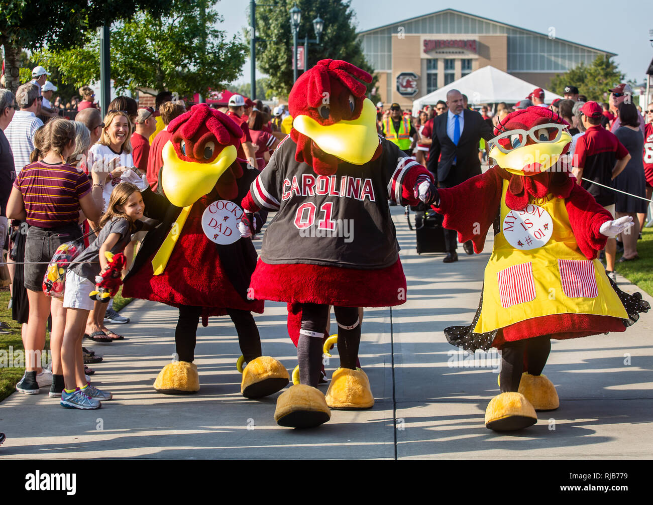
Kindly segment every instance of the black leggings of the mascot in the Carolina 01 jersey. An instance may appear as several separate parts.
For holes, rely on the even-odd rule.
[[[334,307],[338,322],[340,367],[356,369],[360,344],[358,307]],[[302,326],[297,343],[299,380],[317,386],[322,369],[323,336],[327,329],[328,305],[302,303]],[[347,328],[343,328],[343,326]]]

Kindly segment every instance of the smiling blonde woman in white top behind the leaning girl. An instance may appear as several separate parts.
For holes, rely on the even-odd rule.
[[[94,172],[106,172],[104,178],[104,207],[103,212],[109,204],[111,193],[119,185],[120,174],[131,168],[136,173],[134,160],[131,156],[131,132],[132,125],[129,121],[129,115],[124,110],[109,110],[104,116],[104,128],[97,144],[93,144],[88,151],[88,166]],[[91,222],[95,230],[99,227],[97,222]],[[99,231],[97,232],[99,233]],[[125,249],[127,264],[131,264],[134,254],[134,244],[130,243]],[[122,335],[110,331],[104,326],[104,314],[108,309],[108,303],[95,302],[95,308],[89,313],[86,325],[86,334],[93,335],[89,338],[96,342],[111,342],[123,339]],[[99,332],[102,331],[104,335]]]

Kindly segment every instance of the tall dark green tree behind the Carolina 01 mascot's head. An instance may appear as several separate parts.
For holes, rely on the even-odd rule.
[[[374,72],[365,60],[358,41],[351,0],[276,0],[274,7],[261,5],[256,9],[256,63],[259,69],[270,76],[269,89],[272,93],[287,96],[293,87],[293,31],[290,9],[295,4],[302,10],[298,45],[304,44],[306,35],[308,38],[315,38],[315,18],[319,16],[324,20],[320,44],[308,46],[309,68],[321,59],[332,58],[349,61],[370,74]],[[300,74],[301,72],[302,70]],[[368,85],[368,92],[375,82],[376,77],[374,82]]]

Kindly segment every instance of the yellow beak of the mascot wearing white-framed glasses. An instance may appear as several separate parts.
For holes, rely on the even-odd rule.
[[[571,135],[562,132],[558,142],[538,142],[537,144],[517,147],[505,154],[495,145],[490,151],[490,158],[494,158],[501,168],[505,168],[511,174],[518,176],[536,176],[540,172],[546,172],[558,162],[560,154],[565,145],[571,142]],[[534,170],[524,170],[535,163],[539,167]]]

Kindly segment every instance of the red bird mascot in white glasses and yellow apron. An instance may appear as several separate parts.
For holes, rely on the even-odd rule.
[[[537,422],[535,410],[558,408],[556,389],[542,375],[550,339],[624,331],[649,309],[641,294],[619,290],[596,259],[632,219],[613,221],[561,170],[568,126],[543,107],[507,115],[494,130],[496,164],[439,189],[433,206],[444,227],[473,241],[476,252],[494,222],[479,309],[470,326],[446,328],[445,335],[470,352],[502,350],[502,392],[485,412],[486,427],[497,431],[528,427]]]

